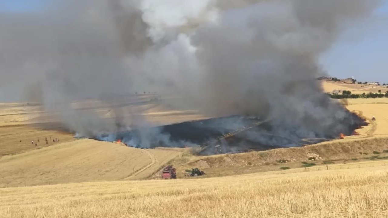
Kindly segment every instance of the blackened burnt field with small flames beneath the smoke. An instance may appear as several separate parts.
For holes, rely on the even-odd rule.
[[[200,155],[264,151],[333,140],[341,133],[352,135],[360,126],[368,125],[354,113],[348,117],[346,125],[342,123],[341,128],[327,128],[324,133],[301,131],[298,126],[279,128],[279,121],[273,122],[274,119],[228,116],[102,134],[96,139],[121,141],[139,148],[197,147]]]

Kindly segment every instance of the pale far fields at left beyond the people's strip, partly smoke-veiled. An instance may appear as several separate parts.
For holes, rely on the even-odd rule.
[[[141,116],[152,125],[168,125],[190,121],[194,119],[209,118],[199,111],[192,109],[177,109],[172,107],[175,99],[153,100],[156,95],[130,95],[120,99],[120,102],[100,102],[98,100],[82,100],[73,102],[71,108],[74,111],[90,111],[100,118],[114,118],[112,108],[125,111],[123,119],[135,119]],[[60,106],[58,106],[60,108]],[[38,103],[1,103],[0,102],[0,126],[20,126],[39,124],[52,126],[59,122],[61,111],[45,111]]]

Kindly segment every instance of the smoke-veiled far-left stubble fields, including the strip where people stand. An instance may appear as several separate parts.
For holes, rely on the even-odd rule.
[[[155,101],[152,100],[153,97],[154,95],[129,96],[117,104],[116,108],[131,111],[130,114],[124,114],[126,119],[141,116],[153,125],[207,118],[198,111],[173,109],[169,106],[169,100]],[[93,111],[101,118],[111,119],[114,114],[109,106],[111,105],[94,100],[72,104],[74,110]],[[0,157],[59,144],[53,142],[54,138],[59,138],[61,143],[74,141],[74,134],[69,133],[55,115],[58,114],[44,111],[42,105],[37,103],[0,103]],[[49,139],[47,144],[45,138]]]

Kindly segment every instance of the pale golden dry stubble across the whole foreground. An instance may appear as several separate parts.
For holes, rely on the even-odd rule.
[[[0,217],[383,218],[388,216],[386,164],[5,188],[0,189]]]

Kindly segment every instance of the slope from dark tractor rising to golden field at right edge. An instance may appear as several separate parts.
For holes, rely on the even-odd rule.
[[[308,158],[312,157],[317,158],[312,162],[319,165],[325,161],[343,163],[351,159],[370,159],[376,156],[374,151],[381,153],[378,158],[387,157],[383,151],[388,151],[388,99],[348,99],[347,104],[350,111],[364,116],[370,123],[357,130],[360,135],[304,147],[192,157],[188,162],[179,163],[178,177],[182,178],[184,171],[190,168],[201,168],[209,176],[225,176],[273,171],[282,166],[300,168],[301,162],[311,162]],[[376,121],[371,121],[372,116]]]

